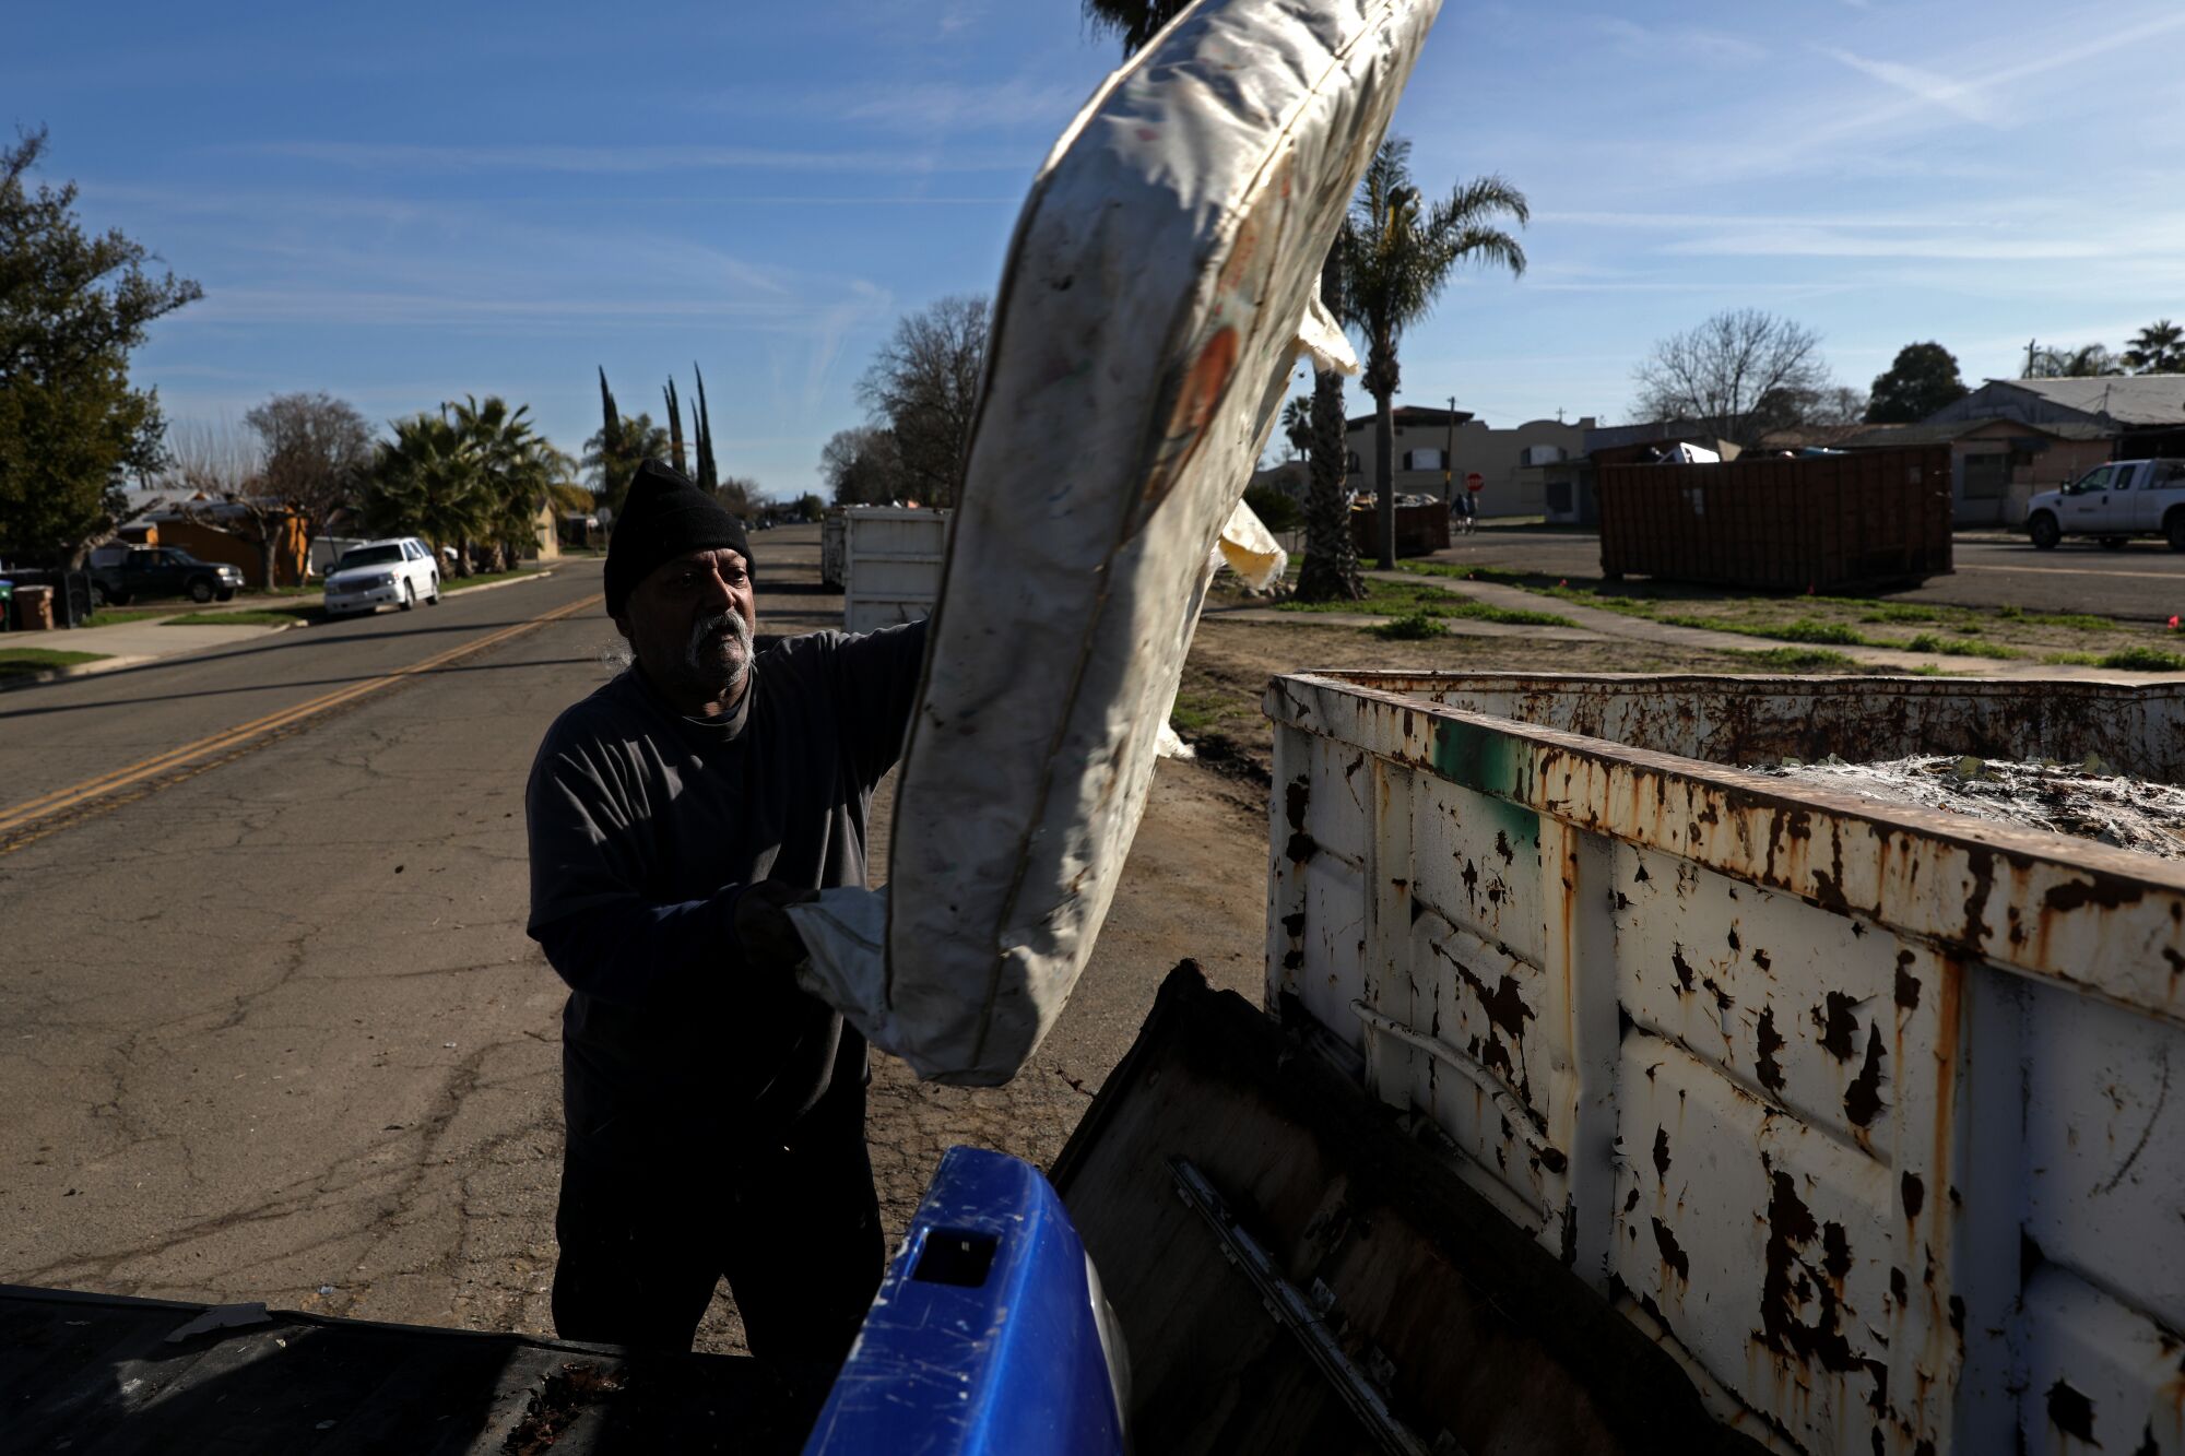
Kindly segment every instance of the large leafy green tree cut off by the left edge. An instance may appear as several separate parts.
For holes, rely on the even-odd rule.
[[[146,328],[203,297],[144,271],[120,232],[87,236],[76,186],[33,190],[46,131],[0,146],[0,555],[74,564],[120,512],[120,485],[162,463],[153,389],[129,385]]]

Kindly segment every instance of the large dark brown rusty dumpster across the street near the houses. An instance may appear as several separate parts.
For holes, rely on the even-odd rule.
[[[1949,448],[1602,466],[1602,575],[1774,592],[1951,571]]]

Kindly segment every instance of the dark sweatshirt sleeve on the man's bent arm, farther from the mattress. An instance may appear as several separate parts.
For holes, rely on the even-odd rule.
[[[627,798],[583,748],[551,732],[531,765],[531,918],[524,931],[572,990],[634,1010],[673,1001],[695,968],[743,966],[743,885],[701,901],[649,901]]]

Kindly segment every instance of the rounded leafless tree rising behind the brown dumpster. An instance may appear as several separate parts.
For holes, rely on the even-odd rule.
[[[1752,444],[1785,420],[1772,404],[1835,389],[1820,356],[1820,334],[1761,308],[1728,308],[1693,330],[1669,334],[1632,376],[1643,420],[1698,420],[1724,439]],[[1768,411],[1781,413],[1781,411]]]

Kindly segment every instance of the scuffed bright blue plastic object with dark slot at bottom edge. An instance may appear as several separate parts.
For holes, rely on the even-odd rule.
[[[1031,1163],[950,1148],[804,1456],[1114,1456],[1127,1358]]]

